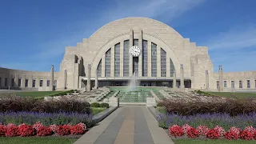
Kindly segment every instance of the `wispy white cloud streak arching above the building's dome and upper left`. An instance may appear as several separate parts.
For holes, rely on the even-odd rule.
[[[84,30],[72,36],[65,36],[52,42],[42,44],[42,50],[34,55],[35,58],[54,58],[64,54],[65,46],[76,46],[77,42],[82,42],[82,38],[89,38],[101,26],[108,22],[125,17],[147,17],[157,18],[164,15],[166,20],[173,19],[198,6],[205,0],[142,0],[130,2],[116,1],[116,6],[108,11],[101,11],[100,16],[93,19],[86,19]],[[59,34],[58,34],[59,35]]]

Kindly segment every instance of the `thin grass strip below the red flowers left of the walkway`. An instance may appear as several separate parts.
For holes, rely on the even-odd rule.
[[[1,144],[71,144],[77,141],[78,138],[53,138],[53,137],[33,137],[33,138],[22,138],[22,137],[13,137],[13,138],[0,138]]]

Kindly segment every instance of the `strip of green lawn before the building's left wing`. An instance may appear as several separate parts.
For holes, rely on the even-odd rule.
[[[59,92],[62,92],[62,91],[32,91],[32,92],[17,92],[14,94],[21,97],[38,98],[38,97],[47,96],[49,94],[59,93]]]

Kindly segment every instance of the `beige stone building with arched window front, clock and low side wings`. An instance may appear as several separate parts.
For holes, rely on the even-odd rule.
[[[196,46],[170,26],[150,18],[110,22],[77,46],[67,46],[52,81],[57,90],[127,86],[134,74],[141,86],[256,89],[256,71],[225,73],[220,66],[214,73],[206,46]],[[42,89],[50,86],[50,77],[50,72],[0,68],[0,88]]]

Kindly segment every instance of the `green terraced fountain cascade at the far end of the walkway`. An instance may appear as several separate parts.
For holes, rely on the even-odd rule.
[[[127,87],[111,87],[111,92],[120,91],[117,95],[120,102],[146,102],[146,98],[152,98],[150,90],[158,91],[159,88],[138,87],[136,91],[129,91]]]

